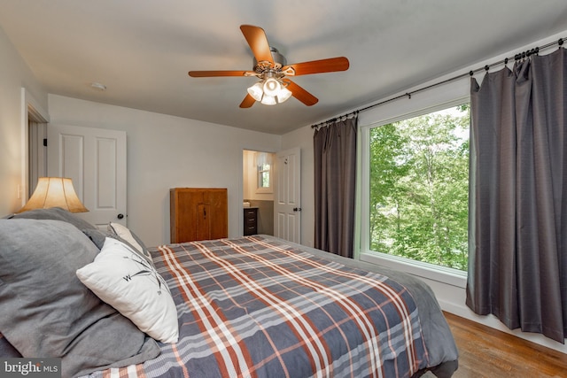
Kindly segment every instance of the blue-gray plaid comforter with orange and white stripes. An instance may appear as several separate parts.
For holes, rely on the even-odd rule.
[[[427,366],[416,304],[388,277],[261,236],[151,251],[180,340],[95,376],[408,377]]]

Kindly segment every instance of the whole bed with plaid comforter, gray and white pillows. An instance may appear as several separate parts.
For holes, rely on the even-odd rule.
[[[60,209],[0,220],[0,237],[8,241],[0,246],[0,353],[61,358],[63,376],[449,377],[458,366],[431,289],[408,274],[268,235],[147,249],[128,228],[99,230]],[[31,260],[20,264],[13,251],[56,269],[55,286],[72,294],[45,300],[53,287],[39,288],[54,275],[30,273]],[[136,268],[118,270],[113,282],[109,272],[122,261]],[[30,283],[17,282],[14,269],[39,290],[23,307]],[[129,300],[145,307],[124,305],[126,284],[136,288]],[[82,299],[53,305],[62,297]],[[63,309],[43,319],[54,306]],[[65,316],[78,329],[50,338]],[[38,330],[20,336],[30,327]]]

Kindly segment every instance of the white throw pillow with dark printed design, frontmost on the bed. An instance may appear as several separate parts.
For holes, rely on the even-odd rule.
[[[127,244],[107,237],[95,260],[76,274],[146,334],[162,343],[177,342],[177,311],[166,282]]]

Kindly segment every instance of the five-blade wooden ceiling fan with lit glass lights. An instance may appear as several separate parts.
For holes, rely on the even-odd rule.
[[[313,60],[310,62],[287,65],[282,54],[268,44],[264,29],[252,25],[241,25],[246,42],[254,55],[252,71],[190,71],[191,77],[217,76],[256,76],[259,82],[248,89],[248,94],[240,104],[241,108],[249,108],[256,101],[262,104],[281,104],[290,96],[294,96],[303,104],[311,106],[319,101],[307,90],[299,87],[288,76],[307,75],[312,73],[331,73],[346,71],[349,63],[345,57]]]

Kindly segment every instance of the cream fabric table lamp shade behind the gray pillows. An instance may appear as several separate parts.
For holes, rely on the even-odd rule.
[[[34,194],[19,212],[60,207],[68,212],[88,212],[74,191],[73,181],[63,177],[40,177]]]

